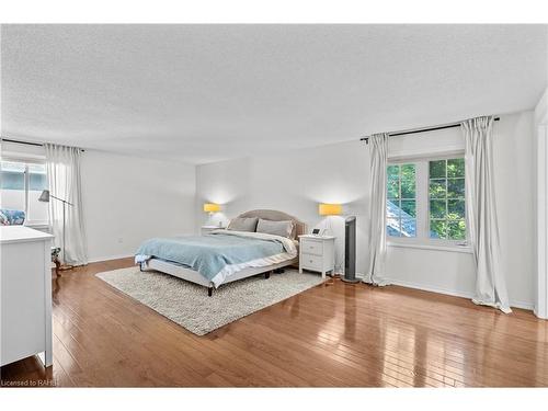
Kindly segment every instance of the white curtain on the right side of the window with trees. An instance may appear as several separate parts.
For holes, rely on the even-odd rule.
[[[477,265],[475,304],[512,312],[500,260],[494,197],[493,117],[461,123],[466,144],[467,225]]]

